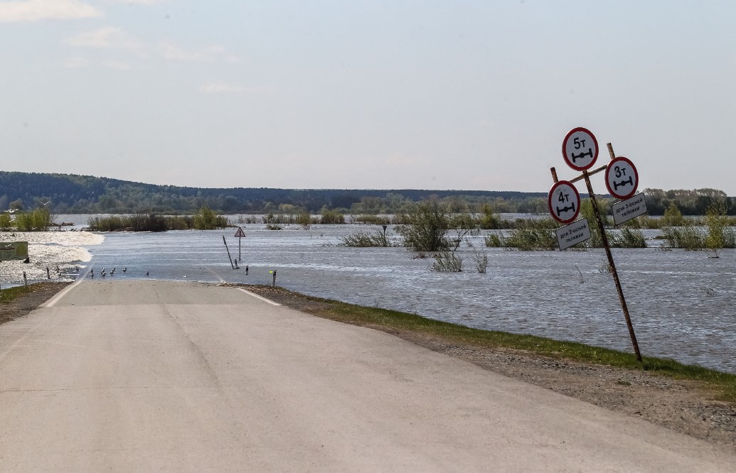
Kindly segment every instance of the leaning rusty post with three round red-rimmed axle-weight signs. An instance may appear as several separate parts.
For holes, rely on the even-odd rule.
[[[595,222],[598,224],[598,230],[601,232],[601,240],[603,241],[604,249],[606,249],[606,257],[608,257],[609,268],[611,268],[611,274],[616,284],[616,291],[618,291],[618,300],[621,303],[621,309],[623,310],[623,316],[626,319],[626,327],[629,327],[629,335],[631,336],[631,344],[634,345],[634,353],[637,356],[637,360],[642,360],[641,352],[639,351],[639,344],[637,343],[637,335],[634,333],[634,326],[631,324],[631,317],[629,316],[629,307],[626,306],[626,298],[623,296],[623,289],[621,288],[621,282],[618,279],[618,271],[616,271],[616,264],[613,261],[613,255],[611,253],[611,246],[608,243],[608,236],[606,235],[606,229],[601,219],[601,213],[598,212],[598,202],[595,201],[595,193],[593,193],[592,185],[590,184],[590,176],[600,171],[606,170],[606,187],[608,187],[611,194],[620,199],[628,199],[633,196],[637,191],[637,185],[639,176],[637,174],[634,163],[627,160],[625,157],[615,157],[613,153],[613,146],[608,143],[608,151],[611,156],[611,163],[608,166],[602,166],[591,172],[588,172],[598,158],[598,141],[595,136],[585,128],[573,128],[570,132],[565,135],[565,139],[562,141],[562,157],[565,158],[570,168],[576,171],[582,171],[582,174],[575,179],[570,181],[559,181],[557,179],[557,171],[555,168],[551,168],[552,179],[554,185],[549,195],[549,206],[550,213],[553,218],[562,223],[569,223],[577,217],[577,213],[570,218],[569,221],[562,220],[560,217],[567,217],[572,210],[567,210],[565,207],[556,207],[553,209],[553,200],[555,197],[559,199],[562,196],[561,190],[572,187],[573,182],[580,179],[585,179],[585,185],[588,188],[588,196],[590,196],[590,203],[593,207],[593,215],[595,216]],[[573,190],[575,188],[573,187]],[[555,193],[555,195],[553,195]],[[577,191],[575,191],[577,193]],[[578,195],[578,207],[579,207]],[[643,197],[642,197],[643,199]],[[559,211],[558,211],[559,208]],[[578,209],[579,210],[579,209]],[[567,212],[567,213],[566,213]],[[584,224],[582,223],[584,221]],[[567,225],[557,230],[557,241],[560,249],[565,249],[573,246],[576,243],[584,241],[585,230],[587,230],[588,238],[590,238],[590,230],[587,228],[587,220],[582,219],[581,221],[575,222],[574,224]],[[569,243],[569,244],[568,244]]]

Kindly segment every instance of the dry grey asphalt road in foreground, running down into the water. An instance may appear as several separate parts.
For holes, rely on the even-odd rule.
[[[703,441],[238,288],[84,281],[0,325],[0,471],[730,471]]]

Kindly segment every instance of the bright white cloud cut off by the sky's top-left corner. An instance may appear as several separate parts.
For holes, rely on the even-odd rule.
[[[0,22],[98,18],[102,12],[79,0],[0,1]]]

